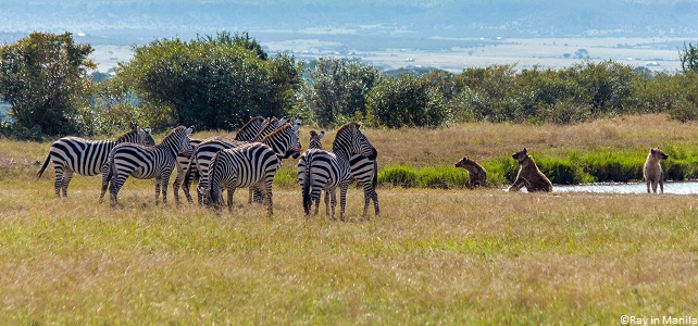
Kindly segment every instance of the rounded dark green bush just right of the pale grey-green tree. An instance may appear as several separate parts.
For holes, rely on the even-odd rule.
[[[382,79],[367,96],[369,113],[389,128],[438,127],[448,117],[444,96],[427,78]]]

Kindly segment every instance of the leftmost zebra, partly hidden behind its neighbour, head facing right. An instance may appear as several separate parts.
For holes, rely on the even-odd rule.
[[[120,136],[114,141],[110,140],[87,140],[79,137],[63,137],[53,143],[49,154],[43,161],[43,165],[37,173],[37,179],[41,177],[43,171],[49,165],[49,161],[53,163],[55,171],[55,196],[61,198],[61,189],[63,197],[67,198],[67,185],[73,178],[73,173],[86,176],[98,175],[103,172],[104,165],[109,160],[109,152],[122,142],[134,142],[140,145],[155,145],[155,140],[150,135],[150,127],[145,130],[141,128],[134,128],[133,130]]]

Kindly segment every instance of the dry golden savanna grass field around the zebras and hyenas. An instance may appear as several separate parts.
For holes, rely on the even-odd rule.
[[[309,130],[301,129],[303,148]],[[327,133],[329,147],[334,130]],[[3,139],[0,321],[618,325],[634,317],[698,318],[698,198],[507,192],[510,174],[490,167],[514,164],[511,154],[526,147],[538,162],[633,153],[627,164],[639,170],[649,148],[659,146],[670,149],[663,165],[691,168],[695,123],[638,115],[570,126],[473,123],[364,134],[378,151],[382,214],[374,217],[371,209],[371,220],[362,218],[363,193],[352,186],[347,222],[325,218],[324,203],[320,216],[306,220],[296,160],[277,174],[272,217],[247,203],[246,189],[236,192],[233,211],[219,216],[197,204],[175,205],[172,187],[169,203],[155,205],[153,181],[134,178],[119,208],[98,203],[99,177],[75,176],[68,198],[59,200],[52,168],[36,179],[35,162],[45,160],[50,142]],[[386,180],[390,168],[451,168],[465,155],[493,170],[490,187]],[[464,170],[450,173],[466,179]]]

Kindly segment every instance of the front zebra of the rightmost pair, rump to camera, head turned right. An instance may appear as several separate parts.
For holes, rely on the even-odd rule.
[[[340,218],[344,220],[347,204],[347,187],[352,178],[349,158],[361,154],[375,160],[377,152],[369,139],[361,133],[361,125],[350,122],[337,130],[332,151],[320,149],[308,150],[298,161],[298,173],[306,174],[302,185],[303,210],[306,217],[310,216],[313,201],[320,200],[322,190],[328,190],[331,199],[325,196],[326,214],[335,218],[337,204],[336,188],[340,187]]]

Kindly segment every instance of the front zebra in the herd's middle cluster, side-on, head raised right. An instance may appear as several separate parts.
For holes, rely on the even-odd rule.
[[[235,189],[254,187],[262,193],[262,198],[266,201],[267,213],[272,215],[274,213],[272,204],[274,175],[281,167],[282,159],[291,154],[298,158],[298,151],[300,151],[298,129],[289,124],[264,137],[262,142],[219,151],[209,163],[207,188],[202,191],[205,193],[207,202],[220,210],[221,188],[225,188],[228,191],[228,210],[232,210]]]

